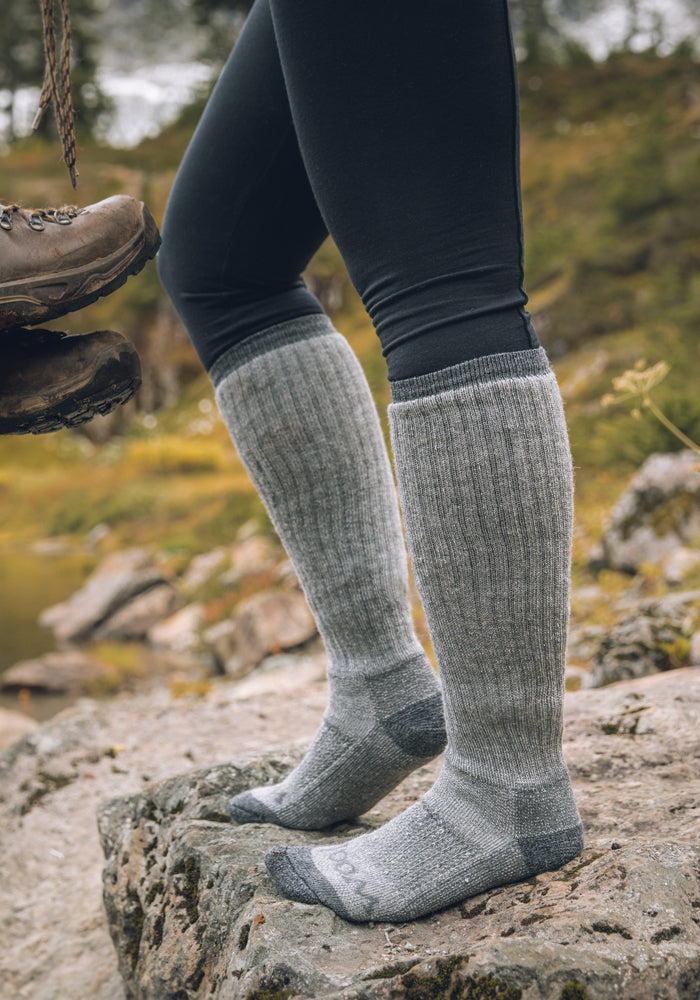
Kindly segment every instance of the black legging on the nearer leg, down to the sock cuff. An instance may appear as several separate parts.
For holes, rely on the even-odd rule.
[[[505,0],[270,0],[314,196],[389,378],[537,347]]]

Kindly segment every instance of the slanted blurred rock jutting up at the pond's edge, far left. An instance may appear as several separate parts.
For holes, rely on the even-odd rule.
[[[47,608],[39,622],[50,628],[59,642],[79,642],[131,598],[165,582],[143,550],[114,552],[68,601]]]

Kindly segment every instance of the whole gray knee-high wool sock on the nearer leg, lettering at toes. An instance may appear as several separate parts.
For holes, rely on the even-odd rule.
[[[443,685],[433,788],[331,847],[275,848],[281,891],[348,920],[411,920],[560,867],[581,821],[561,749],[573,517],[566,424],[539,348],[392,384],[413,572]]]

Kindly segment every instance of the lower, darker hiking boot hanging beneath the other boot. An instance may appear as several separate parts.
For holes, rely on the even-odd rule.
[[[0,434],[43,434],[109,413],[141,384],[138,354],[114,330],[0,338]]]

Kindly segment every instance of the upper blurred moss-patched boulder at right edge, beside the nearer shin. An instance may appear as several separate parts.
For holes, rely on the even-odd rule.
[[[650,456],[615,506],[593,562],[634,573],[641,563],[668,564],[670,580],[697,567],[700,458],[687,450]],[[678,555],[677,550],[685,550]]]

